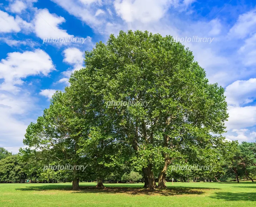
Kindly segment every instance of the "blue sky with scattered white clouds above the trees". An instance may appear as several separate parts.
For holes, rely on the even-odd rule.
[[[226,138],[255,141],[255,0],[1,0],[0,146],[18,152],[28,124],[83,67],[85,50],[128,29],[189,47],[226,90]]]

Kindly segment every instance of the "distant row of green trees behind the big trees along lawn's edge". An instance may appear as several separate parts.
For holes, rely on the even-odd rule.
[[[256,143],[242,142],[234,145],[232,159],[216,163],[212,171],[168,170],[166,181],[174,182],[227,182],[256,179]],[[46,170],[36,160],[24,162],[22,157],[0,147],[0,182],[72,182],[73,172],[69,170]],[[180,163],[182,166],[183,163]],[[157,181],[157,177],[155,177]],[[88,168],[81,173],[80,181],[96,181],[95,173]],[[120,165],[107,173],[103,181],[109,183],[144,182],[143,173],[135,172],[132,165]]]

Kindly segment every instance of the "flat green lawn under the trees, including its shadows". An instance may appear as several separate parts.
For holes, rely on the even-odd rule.
[[[82,182],[72,191],[71,183],[0,184],[0,206],[256,206],[256,183],[167,182],[166,190],[149,191],[143,184]]]

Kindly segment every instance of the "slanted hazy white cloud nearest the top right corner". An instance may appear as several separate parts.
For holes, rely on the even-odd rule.
[[[235,25],[230,29],[230,37],[243,39],[256,32],[256,10],[241,14]]]

